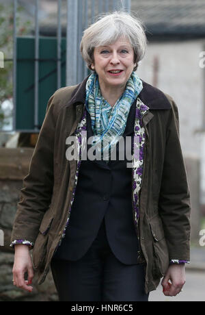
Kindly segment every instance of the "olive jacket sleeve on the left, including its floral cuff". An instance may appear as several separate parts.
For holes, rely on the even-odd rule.
[[[29,173],[23,179],[20,190],[20,201],[17,205],[14,220],[11,246],[26,240],[33,245],[37,236],[44,212],[48,210],[53,192],[53,148],[55,138],[54,95],[49,99],[46,115],[40,129],[38,141],[29,164]],[[18,240],[18,241],[16,241]],[[22,242],[22,244],[26,244]]]

